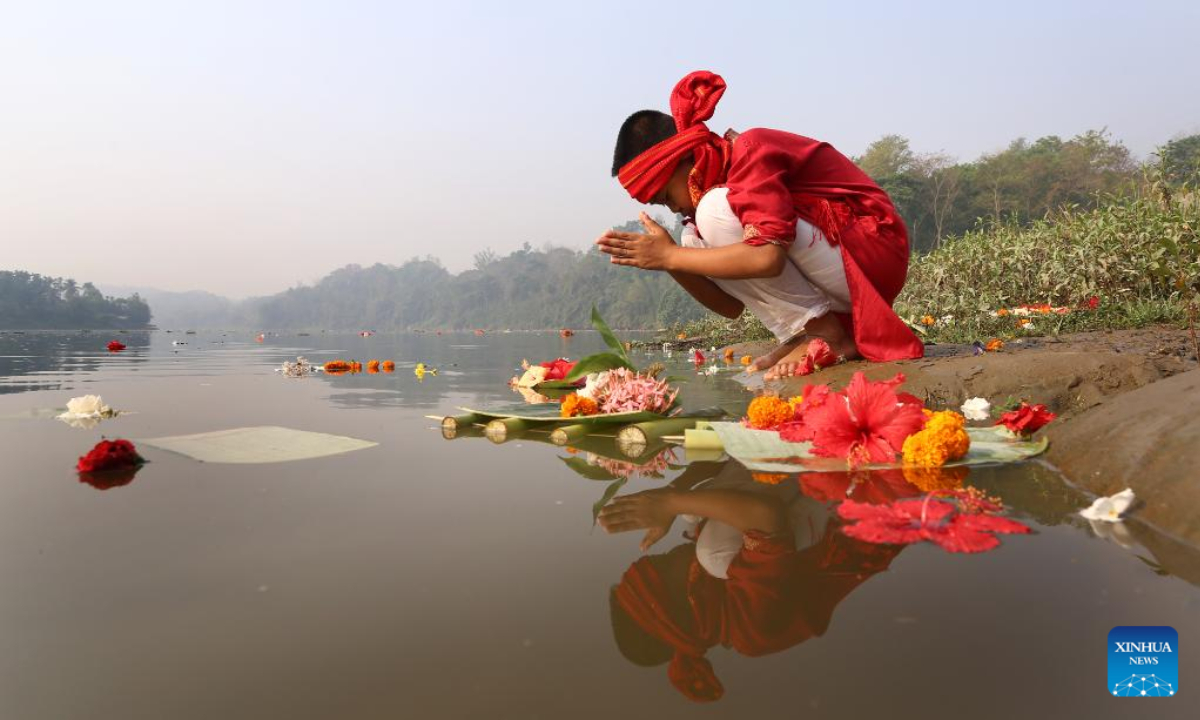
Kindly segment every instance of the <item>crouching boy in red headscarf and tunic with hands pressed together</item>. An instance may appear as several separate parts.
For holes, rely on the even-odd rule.
[[[618,265],[670,272],[725,317],[749,308],[780,341],[751,366],[769,368],[768,379],[811,372],[817,338],[834,358],[920,358],[920,341],[892,310],[908,238],[887,193],[827,143],[766,128],[710,132],[704,120],[724,92],[720,76],[697,71],[676,85],[671,115],[625,120],[613,175],[635,199],[684,215],[684,235],[676,245],[643,212],[644,234],[610,230],[600,250]]]

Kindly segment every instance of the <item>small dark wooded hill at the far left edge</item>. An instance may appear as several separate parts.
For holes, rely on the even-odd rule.
[[[90,282],[0,271],[0,329],[145,328],[150,306],[137,293],[106,296]]]

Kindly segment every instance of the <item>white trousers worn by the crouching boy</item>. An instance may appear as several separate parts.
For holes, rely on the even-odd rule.
[[[696,206],[696,224],[684,227],[684,247],[724,247],[743,240],[742,221],[730,208],[728,188],[708,191]],[[816,228],[796,221],[796,241],[787,251],[790,262],[775,277],[750,280],[712,278],[722,290],[745,304],[767,329],[786,342],[804,325],[829,311],[850,312],[850,287],[841,250],[829,245]]]

